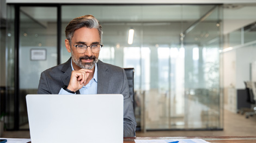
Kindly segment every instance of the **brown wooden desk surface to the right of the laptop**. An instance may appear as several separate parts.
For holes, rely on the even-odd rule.
[[[136,137],[136,138],[124,138],[124,143],[135,143],[135,139],[138,140],[150,140],[150,139],[203,139],[211,143],[236,143],[236,142],[256,142],[256,136],[230,136],[230,137]]]

